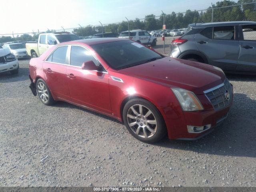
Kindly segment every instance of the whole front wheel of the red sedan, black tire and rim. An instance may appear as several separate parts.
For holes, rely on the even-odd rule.
[[[132,99],[123,109],[126,128],[136,139],[154,143],[166,135],[166,126],[157,108],[144,99]]]

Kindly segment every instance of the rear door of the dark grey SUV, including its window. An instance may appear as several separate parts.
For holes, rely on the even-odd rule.
[[[239,54],[236,26],[209,27],[195,34],[198,50],[208,58],[208,64],[226,71],[235,71]]]

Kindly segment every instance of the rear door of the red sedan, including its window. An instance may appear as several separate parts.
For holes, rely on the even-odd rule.
[[[44,79],[51,92],[58,98],[70,100],[66,78],[68,46],[59,46],[44,61]]]

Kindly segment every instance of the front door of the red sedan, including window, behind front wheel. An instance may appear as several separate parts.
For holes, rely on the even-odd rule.
[[[99,71],[81,68],[83,62],[91,60],[100,66]],[[72,45],[66,76],[72,102],[111,114],[109,74],[88,49]]]

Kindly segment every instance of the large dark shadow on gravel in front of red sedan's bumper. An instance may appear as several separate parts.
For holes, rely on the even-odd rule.
[[[250,112],[248,112],[250,110]],[[155,144],[164,148],[222,156],[256,157],[256,100],[234,94],[228,118],[222,125],[196,141],[169,140]]]

